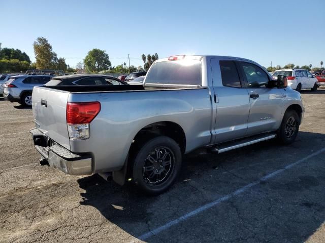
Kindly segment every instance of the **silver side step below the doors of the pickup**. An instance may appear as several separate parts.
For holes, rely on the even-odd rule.
[[[216,147],[211,148],[210,151],[213,153],[223,153],[223,152],[226,152],[229,150],[241,148],[241,147],[244,147],[247,145],[262,142],[262,141],[269,140],[269,139],[272,139],[275,137],[276,137],[276,134],[260,134],[260,135],[256,135],[253,137],[241,139],[241,140],[218,144],[218,145],[216,145]]]

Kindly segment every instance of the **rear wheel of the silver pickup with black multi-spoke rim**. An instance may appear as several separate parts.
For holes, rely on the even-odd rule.
[[[146,194],[158,195],[174,184],[181,163],[181,150],[173,139],[165,136],[152,138],[134,154],[131,164],[133,181]]]

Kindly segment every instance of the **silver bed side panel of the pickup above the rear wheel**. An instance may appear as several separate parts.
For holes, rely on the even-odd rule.
[[[72,93],[69,101],[101,102],[101,112],[90,124],[90,138],[70,141],[71,151],[94,154],[95,173],[120,169],[136,134],[158,121],[172,121],[182,127],[186,152],[211,139],[208,89]]]

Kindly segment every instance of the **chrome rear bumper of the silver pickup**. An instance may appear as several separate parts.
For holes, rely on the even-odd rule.
[[[92,174],[92,157],[90,154],[75,154],[51,141],[39,129],[29,131],[32,134],[37,151],[48,161],[50,167],[57,168],[69,175]]]

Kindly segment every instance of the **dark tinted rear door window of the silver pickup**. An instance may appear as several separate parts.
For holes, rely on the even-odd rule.
[[[234,61],[220,61],[222,85],[240,88],[239,74]]]

